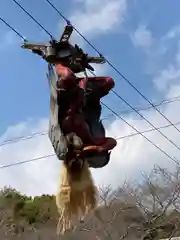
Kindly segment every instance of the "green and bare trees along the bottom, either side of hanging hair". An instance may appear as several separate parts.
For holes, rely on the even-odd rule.
[[[140,183],[125,182],[116,190],[108,186],[99,194],[99,208],[66,239],[156,240],[180,235],[179,166],[173,173],[155,167]],[[0,210],[0,239],[7,229],[22,239],[26,232],[54,239],[58,218],[54,196],[33,198],[5,187],[0,191]]]

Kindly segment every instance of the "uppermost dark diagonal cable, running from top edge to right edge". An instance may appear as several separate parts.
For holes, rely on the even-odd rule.
[[[62,14],[61,11],[59,11],[57,9],[57,7],[49,0],[45,0],[66,22],[70,23],[70,21],[65,17],[64,14]],[[71,24],[72,25],[72,24]],[[73,25],[72,25],[73,26]],[[100,53],[100,51],[86,38],[83,36],[83,34],[75,27],[73,26],[74,30],[84,39],[84,41],[86,41],[94,50],[95,52],[97,52],[99,55],[102,55]],[[144,95],[140,92],[140,90],[137,89],[137,87],[135,87],[107,58],[105,58],[106,62],[109,64],[109,66],[115,70],[116,73],[118,73],[118,75],[120,75],[120,77],[122,79],[124,79],[142,98],[144,98],[163,118],[165,118],[178,132],[180,132],[180,130],[173,125],[173,123]]]

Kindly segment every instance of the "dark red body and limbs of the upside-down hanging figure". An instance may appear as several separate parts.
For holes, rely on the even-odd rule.
[[[98,152],[113,149],[116,146],[116,140],[103,136],[93,137],[85,121],[82,112],[85,79],[78,79],[68,67],[61,64],[56,65],[56,72],[58,75],[57,86],[67,92],[70,90],[76,92],[61,121],[62,131],[66,133],[75,132],[83,140],[84,145],[95,145]],[[88,81],[94,81],[100,86],[100,91],[96,94],[97,101],[100,101],[100,98],[107,95],[114,87],[114,81],[111,77],[89,77]]]

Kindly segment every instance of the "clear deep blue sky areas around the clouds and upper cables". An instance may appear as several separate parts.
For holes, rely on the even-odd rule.
[[[44,1],[19,1],[53,36],[58,37],[64,22],[57,13]],[[58,1],[53,3],[68,18],[74,12],[83,11],[81,1]],[[147,56],[142,49],[133,45],[130,33],[139,24],[148,27],[154,38],[162,37],[168,30],[179,24],[178,0],[173,4],[168,0],[161,1],[127,1],[127,10],[122,24],[115,24],[111,29],[89,37],[100,51],[117,66],[146,96],[154,99],[156,90],[152,83],[152,75],[146,74],[145,60]],[[12,0],[1,3],[0,15],[30,41],[48,41],[49,36],[43,32]],[[39,57],[20,48],[21,39],[0,23],[2,49],[0,109],[2,111],[0,132],[7,126],[27,118],[47,117],[49,113],[49,95],[46,80],[47,65]],[[9,41],[9,42],[8,42]],[[4,45],[4,46],[3,46]],[[85,49],[90,50],[87,45]],[[92,52],[92,51],[91,51]],[[169,53],[171,55],[171,53]],[[168,57],[168,56],[167,56]],[[160,64],[165,64],[161,60]],[[134,106],[146,104],[120,77],[108,68],[106,74],[114,77],[115,90],[122,94]],[[118,101],[118,110],[127,107],[111,95],[105,99],[110,106]],[[121,107],[122,105],[122,107]],[[105,113],[106,115],[108,112]]]

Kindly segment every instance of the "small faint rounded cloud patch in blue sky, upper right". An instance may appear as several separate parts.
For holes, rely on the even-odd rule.
[[[131,40],[135,46],[142,47],[144,50],[148,50],[154,41],[150,29],[142,24],[131,34]]]

